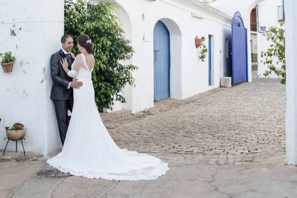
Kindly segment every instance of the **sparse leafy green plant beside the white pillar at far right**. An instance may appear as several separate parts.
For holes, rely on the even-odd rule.
[[[271,72],[274,72],[277,76],[281,76],[281,84],[286,84],[286,60],[285,60],[285,29],[282,28],[283,23],[280,24],[281,28],[275,26],[270,27],[267,33],[263,36],[267,37],[267,41],[271,41],[267,52],[261,51],[261,58],[265,57],[265,60],[261,60],[264,65],[267,65],[269,70],[266,70],[263,74],[268,76]],[[277,59],[276,62],[274,59]],[[274,64],[281,67],[275,67]]]

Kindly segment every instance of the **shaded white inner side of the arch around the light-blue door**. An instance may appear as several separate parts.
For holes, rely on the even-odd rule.
[[[172,19],[159,20],[165,24],[170,35],[170,97],[182,99],[182,33]]]

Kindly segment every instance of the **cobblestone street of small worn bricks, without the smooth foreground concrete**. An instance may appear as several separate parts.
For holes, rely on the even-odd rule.
[[[163,104],[164,103],[164,104]],[[121,148],[169,165],[285,165],[286,88],[256,80],[105,122]]]

